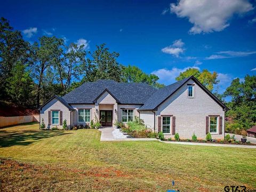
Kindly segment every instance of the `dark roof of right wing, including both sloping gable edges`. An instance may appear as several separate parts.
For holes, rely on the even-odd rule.
[[[156,91],[139,110],[157,110],[157,107],[171,97],[182,85],[186,84],[190,79],[201,87],[210,97],[217,102],[223,110],[229,110],[229,108],[222,103],[214,94],[212,94],[202,83],[200,83],[194,76],[187,77],[181,81],[175,82],[169,86],[163,87]]]

